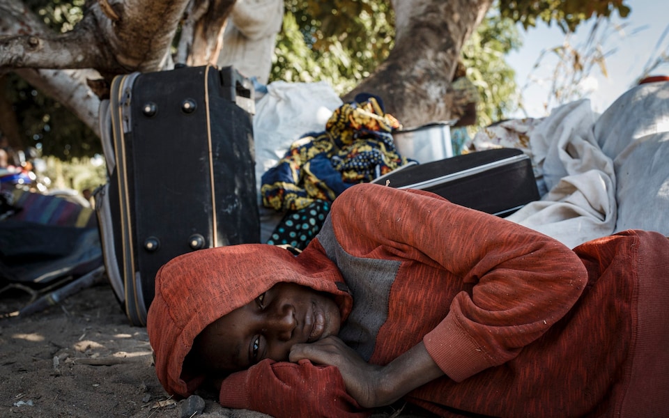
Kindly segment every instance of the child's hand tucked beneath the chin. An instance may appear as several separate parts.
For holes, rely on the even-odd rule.
[[[383,399],[381,379],[383,367],[365,362],[353,349],[336,336],[328,336],[309,344],[295,344],[291,348],[291,362],[309,359],[316,364],[335,366],[346,384],[346,392],[362,408],[374,408],[395,401]]]

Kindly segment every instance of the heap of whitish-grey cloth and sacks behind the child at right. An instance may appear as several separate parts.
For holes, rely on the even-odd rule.
[[[529,155],[541,199],[507,219],[568,247],[626,229],[669,236],[669,82],[633,86],[602,114],[583,99],[502,121],[466,147]]]

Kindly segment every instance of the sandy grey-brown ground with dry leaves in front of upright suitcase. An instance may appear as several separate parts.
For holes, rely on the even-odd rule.
[[[0,314],[27,302],[22,291],[2,293]],[[129,325],[106,282],[36,314],[0,318],[0,376],[0,417],[190,417],[155,376],[146,328]],[[374,418],[415,417],[389,411]],[[198,416],[268,417],[213,398]]]

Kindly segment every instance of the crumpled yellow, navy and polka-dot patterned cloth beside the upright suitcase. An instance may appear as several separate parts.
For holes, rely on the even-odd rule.
[[[393,143],[400,127],[380,98],[361,94],[334,109],[323,132],[293,142],[262,176],[263,206],[285,213],[268,244],[306,247],[341,192],[410,162]]]

